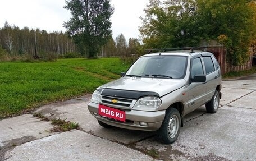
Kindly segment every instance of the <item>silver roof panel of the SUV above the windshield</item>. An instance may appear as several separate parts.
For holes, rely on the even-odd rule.
[[[147,57],[147,56],[195,56],[195,55],[209,55],[212,54],[210,52],[203,52],[200,50],[195,50],[191,52],[191,50],[175,50],[175,51],[167,51],[167,52],[157,52],[157,53],[151,53],[151,54],[145,54],[141,57]]]

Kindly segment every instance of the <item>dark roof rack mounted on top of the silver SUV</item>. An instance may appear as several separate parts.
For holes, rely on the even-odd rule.
[[[166,52],[166,51],[174,51],[174,50],[191,50],[191,53],[194,52],[194,50],[203,50],[206,51],[206,48],[213,48],[215,46],[203,46],[203,47],[184,47],[184,48],[165,48],[165,49],[145,49],[148,51],[148,54],[152,53],[153,51],[159,51],[159,52]]]

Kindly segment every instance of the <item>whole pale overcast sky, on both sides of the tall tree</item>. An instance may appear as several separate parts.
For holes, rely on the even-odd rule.
[[[115,8],[111,17],[114,39],[121,33],[126,39],[138,38],[139,16],[144,16],[147,3],[148,0],[111,0]],[[7,21],[20,29],[26,26],[48,32],[65,31],[63,21],[71,17],[63,8],[65,4],[65,0],[0,0],[0,27]]]

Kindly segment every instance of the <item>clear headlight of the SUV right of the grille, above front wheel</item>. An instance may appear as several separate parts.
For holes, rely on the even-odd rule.
[[[158,108],[161,105],[161,99],[156,96],[145,96],[141,99],[138,99],[135,103],[135,108]]]

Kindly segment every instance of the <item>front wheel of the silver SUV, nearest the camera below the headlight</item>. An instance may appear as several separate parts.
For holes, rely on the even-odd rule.
[[[176,108],[169,108],[163,119],[162,126],[157,131],[159,141],[164,144],[172,144],[180,134],[181,117]]]

